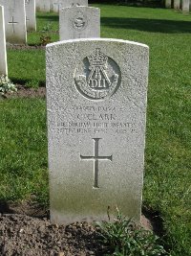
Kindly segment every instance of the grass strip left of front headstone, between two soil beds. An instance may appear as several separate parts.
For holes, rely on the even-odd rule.
[[[0,200],[48,204],[45,102],[0,101]]]

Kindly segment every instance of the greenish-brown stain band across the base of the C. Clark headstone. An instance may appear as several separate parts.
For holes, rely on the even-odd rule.
[[[139,204],[138,200],[133,197],[129,197],[128,195],[124,195],[122,198],[111,198],[111,200],[104,201],[104,199],[93,197],[92,194],[88,193],[83,187],[75,187],[74,192],[72,190],[70,193],[64,193],[63,186],[53,190],[52,201],[51,201],[51,209],[53,212],[58,212],[60,215],[66,214],[77,216],[107,216],[108,207],[110,207],[111,216],[117,215],[116,207],[121,211],[121,213],[128,217],[134,218],[139,221]],[[79,199],[79,193],[82,195]],[[93,189],[93,194],[96,192]]]

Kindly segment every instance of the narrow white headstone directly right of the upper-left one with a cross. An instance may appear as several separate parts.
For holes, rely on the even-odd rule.
[[[28,31],[36,31],[35,0],[25,0],[26,23]]]

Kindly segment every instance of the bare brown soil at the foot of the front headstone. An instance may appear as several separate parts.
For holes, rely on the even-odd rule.
[[[52,223],[49,212],[32,201],[0,202],[0,255],[2,256],[101,256],[99,229],[88,222]],[[142,216],[142,224],[153,228]]]

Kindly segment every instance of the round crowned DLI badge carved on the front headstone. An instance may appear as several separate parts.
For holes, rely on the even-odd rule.
[[[117,92],[121,73],[117,62],[109,58],[99,48],[84,58],[74,72],[74,83],[84,97],[90,100],[103,100]]]

